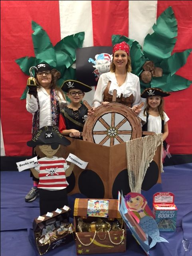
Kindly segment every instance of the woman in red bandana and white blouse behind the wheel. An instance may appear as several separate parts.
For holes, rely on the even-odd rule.
[[[110,72],[100,75],[93,98],[93,112],[99,105],[106,106],[113,98],[113,90],[117,90],[117,103],[131,107],[138,115],[141,111],[141,91],[139,77],[131,73],[129,45],[126,42],[113,47],[113,62]]]

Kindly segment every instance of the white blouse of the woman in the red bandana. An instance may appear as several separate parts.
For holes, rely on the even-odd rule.
[[[103,102],[104,91],[109,81],[111,81],[111,85],[109,87],[110,95],[113,95],[113,90],[117,90],[117,97],[119,98],[121,97],[121,94],[123,94],[123,97],[129,97],[131,94],[133,94],[134,98],[132,107],[134,105],[138,105],[139,103],[141,103],[140,83],[139,77],[137,75],[127,72],[125,82],[121,86],[118,86],[115,73],[107,72],[100,75],[99,77],[97,88],[95,90],[95,95],[92,102],[93,107],[98,107]]]

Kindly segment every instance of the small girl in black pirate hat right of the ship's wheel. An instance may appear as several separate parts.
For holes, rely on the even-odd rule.
[[[163,155],[162,160],[166,155],[170,157],[168,152],[169,145],[165,139],[168,136],[168,116],[163,111],[163,97],[169,96],[170,93],[162,91],[159,88],[147,88],[141,94],[142,98],[146,98],[144,110],[139,114],[141,123],[143,124],[143,131],[153,131],[155,133],[162,133],[163,141]]]

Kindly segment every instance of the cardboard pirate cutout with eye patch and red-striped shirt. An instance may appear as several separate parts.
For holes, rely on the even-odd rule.
[[[53,126],[45,126],[38,130],[35,137],[27,142],[29,147],[35,147],[39,157],[38,165],[31,169],[35,177],[39,178],[40,214],[52,212],[68,204],[66,176],[73,170],[62,157],[65,146],[70,141],[59,133]]]

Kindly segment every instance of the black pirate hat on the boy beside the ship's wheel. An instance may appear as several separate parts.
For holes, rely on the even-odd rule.
[[[91,91],[92,88],[89,85],[86,85],[85,83],[81,83],[76,80],[66,80],[61,85],[61,89],[65,92],[68,92],[70,89],[79,89],[84,92]]]

